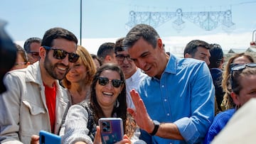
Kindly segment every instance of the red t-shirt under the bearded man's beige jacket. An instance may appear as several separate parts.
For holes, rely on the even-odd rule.
[[[48,87],[46,84],[43,84],[45,87],[46,94],[46,105],[48,108],[49,116],[50,116],[50,128],[51,132],[54,133],[55,127],[55,106],[56,106],[56,88],[55,83],[53,87]]]

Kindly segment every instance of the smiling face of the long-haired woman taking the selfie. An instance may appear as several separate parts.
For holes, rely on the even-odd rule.
[[[100,77],[107,77],[108,79],[121,79],[118,72],[113,70],[104,70]],[[123,84],[116,88],[112,86],[112,82],[108,82],[105,86],[102,86],[97,81],[95,86],[96,98],[100,107],[114,107],[114,103],[117,100],[117,96],[121,93]]]

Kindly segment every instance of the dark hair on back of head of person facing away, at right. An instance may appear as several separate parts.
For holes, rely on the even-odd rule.
[[[221,61],[223,60],[224,53],[220,45],[210,44],[210,65],[209,68],[220,67]]]

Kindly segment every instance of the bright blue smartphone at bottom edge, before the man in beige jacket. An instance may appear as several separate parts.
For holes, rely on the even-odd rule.
[[[40,131],[39,136],[40,144],[61,144],[61,138],[59,135],[49,133],[48,131]]]

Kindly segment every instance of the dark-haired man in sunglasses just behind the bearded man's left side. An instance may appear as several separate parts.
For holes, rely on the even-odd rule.
[[[39,48],[41,46],[41,38],[28,38],[24,43],[24,49],[28,54],[28,61],[33,64],[39,60]]]

